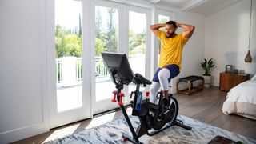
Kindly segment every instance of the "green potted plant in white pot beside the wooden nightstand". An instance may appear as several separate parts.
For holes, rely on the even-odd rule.
[[[202,77],[205,79],[205,87],[210,87],[211,84],[211,75],[210,72],[211,70],[214,69],[214,61],[213,58],[210,58],[210,60],[207,60],[204,58],[204,61],[201,62],[201,67],[204,70],[204,74],[202,74]]]

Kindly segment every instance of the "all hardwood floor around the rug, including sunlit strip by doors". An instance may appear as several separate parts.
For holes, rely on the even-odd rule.
[[[226,100],[226,92],[219,90],[218,87],[204,88],[202,91],[190,96],[174,94],[174,97],[177,98],[179,103],[179,114],[256,139],[255,120],[237,115],[222,114],[222,103]],[[130,109],[128,109],[128,114],[130,114]],[[42,143],[45,140],[60,138],[66,134],[77,133],[78,131],[110,122],[113,118],[118,117],[122,117],[121,111],[105,114],[94,119],[74,122],[70,125],[50,130],[48,133],[39,134],[14,143]],[[104,122],[102,122],[102,119],[104,119]]]

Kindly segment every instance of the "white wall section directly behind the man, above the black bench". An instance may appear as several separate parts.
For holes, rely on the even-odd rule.
[[[195,26],[194,34],[186,43],[182,53],[182,70],[178,77],[172,81],[173,93],[176,93],[176,79],[189,75],[202,75],[200,62],[204,54],[205,41],[205,18],[202,14],[185,13],[181,11],[175,12],[175,20],[177,22],[186,23]],[[183,83],[180,84],[181,90],[184,88]],[[187,87],[187,86],[185,86]]]

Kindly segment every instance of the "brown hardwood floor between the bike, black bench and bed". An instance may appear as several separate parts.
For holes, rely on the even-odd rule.
[[[256,139],[256,121],[238,115],[222,114],[226,92],[218,87],[204,88],[190,96],[174,94],[179,103],[179,114],[201,122]]]

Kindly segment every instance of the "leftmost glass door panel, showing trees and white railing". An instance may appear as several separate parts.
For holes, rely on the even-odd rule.
[[[56,0],[55,56],[57,110],[82,106],[82,2]],[[66,9],[72,9],[66,11]]]

